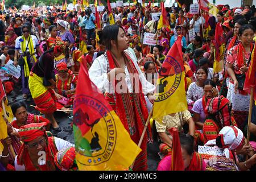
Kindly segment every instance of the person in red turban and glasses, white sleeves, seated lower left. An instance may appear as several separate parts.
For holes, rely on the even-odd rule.
[[[20,127],[19,135],[23,144],[15,157],[16,171],[55,171],[55,154],[62,148],[75,146],[57,137],[47,137],[46,125],[43,122]]]

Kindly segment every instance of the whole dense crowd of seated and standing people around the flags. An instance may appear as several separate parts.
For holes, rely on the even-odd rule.
[[[1,139],[0,169],[78,169],[75,144],[53,136],[49,130],[63,130],[53,113],[57,109],[72,111],[82,63],[138,144],[154,105],[159,69],[181,37],[188,110],[165,115],[162,121],[151,119],[132,169],[147,170],[147,142],[155,138],[161,159],[157,169],[172,170],[176,138],[168,130],[175,127],[180,134],[184,170],[255,170],[256,110],[253,105],[247,141],[250,94],[243,90],[256,40],[255,7],[230,9],[229,5],[218,5],[216,16],[204,10],[190,14],[185,6],[165,7],[170,27],[158,29],[159,20],[152,20],[151,14],[161,9],[117,7],[111,12],[115,24],[111,23],[108,7],[99,15],[90,7],[84,11],[53,7],[1,12],[1,68],[9,61],[20,67],[19,78],[6,72],[9,79],[2,84],[7,96],[21,85],[24,102],[11,104],[12,122],[3,117],[8,137]],[[219,24],[225,40],[222,49],[217,48],[223,64],[222,71],[216,72],[213,65]],[[189,36],[191,30],[193,37]],[[155,34],[155,46],[143,44],[146,32]],[[115,88],[122,79],[117,77],[112,82],[112,76],[119,74],[125,79],[121,93]],[[131,74],[138,75],[138,85],[133,85]],[[133,92],[136,86],[140,93]],[[29,97],[44,117],[27,112]],[[46,159],[40,159],[40,151],[46,152]]]

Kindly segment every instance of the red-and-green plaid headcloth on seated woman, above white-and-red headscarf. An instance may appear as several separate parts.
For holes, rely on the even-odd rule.
[[[224,96],[214,97],[207,101],[207,106],[204,110],[207,118],[214,117],[214,120],[216,120],[221,129],[224,126],[230,126],[231,123],[231,114],[228,103],[229,100]]]

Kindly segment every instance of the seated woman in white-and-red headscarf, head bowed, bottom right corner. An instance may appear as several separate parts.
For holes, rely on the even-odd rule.
[[[246,171],[256,164],[256,154],[253,148],[246,144],[246,139],[243,137],[243,133],[236,126],[225,126],[220,130],[220,133],[215,139],[209,140],[205,143],[206,147],[200,147],[199,153],[202,154],[207,162],[207,168],[214,170],[214,167],[208,163],[213,158],[224,157],[234,160],[235,166],[233,170]],[[213,147],[210,147],[213,146]],[[210,148],[209,148],[210,147]],[[214,156],[210,158],[211,155]],[[239,156],[238,156],[239,155]],[[249,159],[245,160],[244,156],[248,155]],[[220,171],[220,169],[218,169]]]

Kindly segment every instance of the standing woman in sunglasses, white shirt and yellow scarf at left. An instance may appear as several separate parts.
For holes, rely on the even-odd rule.
[[[28,88],[28,77],[30,76],[30,70],[36,62],[36,51],[42,55],[40,44],[35,35],[30,35],[30,27],[27,24],[22,26],[23,35],[19,36],[15,40],[15,55],[14,65],[18,64],[18,57],[23,58],[24,61],[20,62],[21,76],[22,76],[22,93],[23,98],[27,98],[27,94],[30,93]]]

